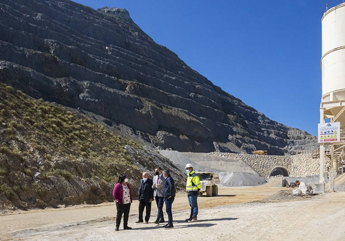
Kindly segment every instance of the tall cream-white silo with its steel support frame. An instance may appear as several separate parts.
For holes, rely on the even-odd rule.
[[[324,183],[325,148],[331,153],[331,165],[337,170],[339,162],[345,162],[344,127],[345,127],[345,3],[327,8],[323,13],[321,78],[322,97],[320,104],[320,123],[326,118],[331,122],[340,122],[341,143],[320,144],[320,183]],[[327,6],[328,7],[328,6]],[[344,163],[345,164],[345,163]]]

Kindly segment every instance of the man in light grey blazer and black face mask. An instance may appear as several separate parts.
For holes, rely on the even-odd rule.
[[[163,205],[164,205],[164,199],[163,199],[163,185],[165,178],[163,177],[162,174],[162,169],[160,167],[155,168],[155,173],[156,176],[153,177],[153,184],[152,184],[152,189],[154,190],[153,196],[156,199],[156,204],[157,204],[157,218],[154,223],[159,224],[159,223],[164,223],[164,216],[163,216]]]

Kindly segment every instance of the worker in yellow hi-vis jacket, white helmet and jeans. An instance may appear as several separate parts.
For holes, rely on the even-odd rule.
[[[187,182],[186,182],[186,191],[187,198],[190,206],[190,217],[186,219],[186,222],[197,222],[198,216],[198,195],[199,189],[201,189],[199,176],[196,175],[191,164],[186,165],[187,173]]]

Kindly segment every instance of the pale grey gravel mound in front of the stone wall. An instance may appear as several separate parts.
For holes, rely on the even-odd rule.
[[[223,186],[259,186],[267,181],[257,174],[236,171],[236,172],[217,172],[219,175],[219,184]]]

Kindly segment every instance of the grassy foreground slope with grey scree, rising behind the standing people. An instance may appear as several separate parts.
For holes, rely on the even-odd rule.
[[[112,201],[119,174],[136,197],[142,172],[152,178],[157,166],[184,186],[183,172],[152,148],[1,83],[0,143],[0,209]]]

